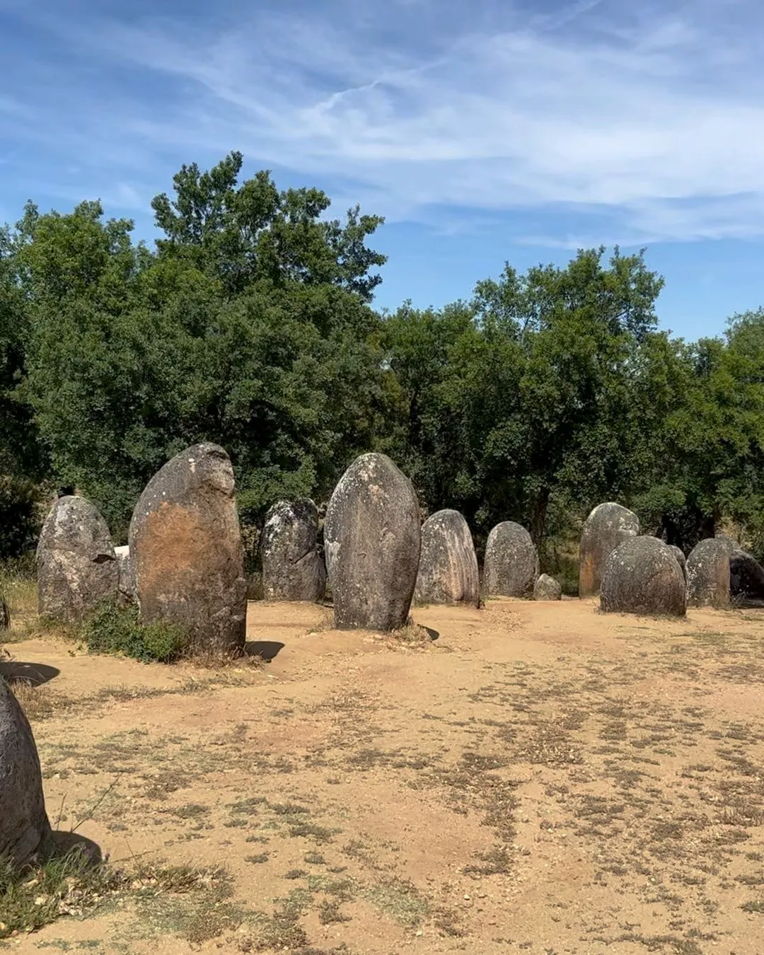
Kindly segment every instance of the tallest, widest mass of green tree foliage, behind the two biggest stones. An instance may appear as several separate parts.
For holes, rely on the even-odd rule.
[[[188,444],[225,447],[256,520],[279,496],[326,494],[380,431],[389,399],[362,242],[378,220],[319,222],[323,194],[269,193],[266,174],[235,189],[239,164],[184,167],[175,205],[154,203],[169,233],[156,253],[98,203],[31,206],[18,229],[27,393],[56,477],[117,537]]]

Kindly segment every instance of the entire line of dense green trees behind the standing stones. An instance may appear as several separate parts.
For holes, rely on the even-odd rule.
[[[617,499],[669,542],[729,520],[762,555],[764,310],[673,338],[643,254],[599,248],[379,313],[382,219],[328,220],[323,192],[241,167],[183,166],[152,202],[154,248],[99,202],[28,203],[0,230],[0,555],[32,545],[54,487],[122,539],[147,480],[200,440],[232,457],[251,525],[378,450],[478,541],[519,520],[543,550]]]

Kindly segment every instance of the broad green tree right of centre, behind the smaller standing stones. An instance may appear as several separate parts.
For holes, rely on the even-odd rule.
[[[616,249],[607,264],[604,254],[524,275],[506,265],[477,284],[471,310],[409,309],[388,322],[414,409],[414,472],[437,470],[420,479],[432,506],[460,506],[483,533],[522,520],[541,542],[553,495],[584,504],[626,490],[663,280],[642,254]]]

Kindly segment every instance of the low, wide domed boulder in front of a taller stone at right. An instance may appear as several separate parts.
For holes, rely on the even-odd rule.
[[[668,544],[653,537],[619,544],[605,561],[600,607],[605,613],[684,617],[685,575]]]

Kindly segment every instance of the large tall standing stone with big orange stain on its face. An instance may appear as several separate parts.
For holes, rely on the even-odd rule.
[[[130,522],[140,619],[189,632],[199,649],[244,647],[244,544],[230,458],[196,444],[151,478]]]

